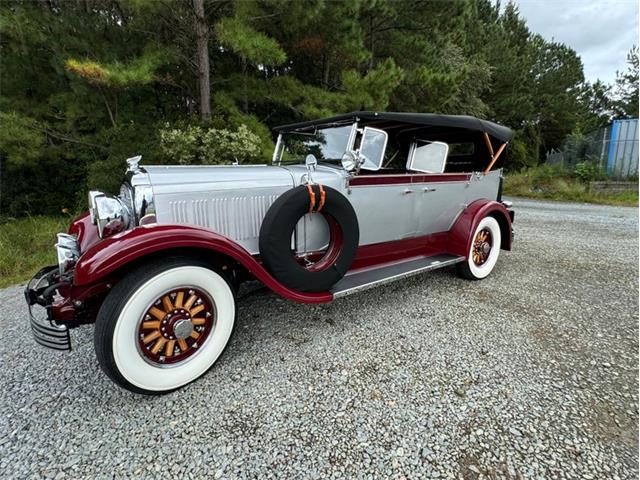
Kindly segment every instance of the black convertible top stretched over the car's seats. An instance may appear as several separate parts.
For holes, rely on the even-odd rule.
[[[468,115],[438,115],[435,113],[398,113],[398,112],[351,112],[335,117],[311,120],[308,122],[292,123],[275,128],[276,132],[294,132],[305,130],[309,127],[327,126],[332,124],[343,124],[355,120],[364,123],[381,122],[387,127],[389,124],[396,125],[420,125],[425,127],[443,127],[471,130],[475,132],[486,132],[493,138],[501,142],[508,142],[513,137],[513,131],[497,123],[488,120],[481,120]],[[382,127],[382,126],[381,126]]]

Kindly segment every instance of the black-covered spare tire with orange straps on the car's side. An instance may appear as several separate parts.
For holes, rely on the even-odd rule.
[[[260,227],[260,256],[267,270],[283,285],[302,292],[322,292],[340,280],[351,266],[360,230],[356,213],[344,195],[326,186],[312,185],[311,189],[315,202],[311,200],[309,186],[300,185],[280,195],[271,205]],[[329,225],[329,244],[313,263],[296,257],[291,248],[296,224],[310,210],[312,215],[323,215]]]

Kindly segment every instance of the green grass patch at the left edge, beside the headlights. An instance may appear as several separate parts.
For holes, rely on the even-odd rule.
[[[0,288],[25,282],[40,268],[58,262],[56,233],[66,232],[71,218],[26,217],[0,221]]]

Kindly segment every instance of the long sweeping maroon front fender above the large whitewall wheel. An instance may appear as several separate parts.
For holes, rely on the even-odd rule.
[[[74,286],[100,282],[110,273],[145,255],[175,248],[201,248],[231,257],[271,290],[296,302],[326,303],[333,299],[329,292],[291,290],[275,280],[234,241],[206,228],[185,225],[143,225],[92,245],[76,264]]]

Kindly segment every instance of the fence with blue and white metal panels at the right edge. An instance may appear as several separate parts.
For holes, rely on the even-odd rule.
[[[614,120],[582,138],[569,138],[562,149],[547,152],[546,161],[569,169],[577,163],[589,162],[611,178],[637,177],[638,140],[637,118]]]

